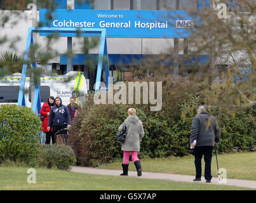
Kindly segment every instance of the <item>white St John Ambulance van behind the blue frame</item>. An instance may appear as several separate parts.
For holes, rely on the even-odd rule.
[[[21,76],[10,76],[0,78],[0,105],[6,103],[18,103],[18,91],[20,89]],[[68,105],[69,99],[74,96],[77,99],[85,99],[88,95],[89,80],[85,79],[83,72],[69,72],[66,75],[55,75],[41,77],[40,96],[41,106],[49,96],[59,96],[62,103]],[[30,78],[25,81],[25,103],[31,107]]]

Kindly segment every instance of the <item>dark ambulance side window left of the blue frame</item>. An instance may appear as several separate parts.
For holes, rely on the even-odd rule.
[[[20,86],[0,86],[0,103],[17,103]]]

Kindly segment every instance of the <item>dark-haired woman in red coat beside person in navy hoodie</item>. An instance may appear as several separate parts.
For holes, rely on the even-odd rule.
[[[51,107],[53,107],[54,105],[55,105],[55,98],[53,96],[50,96],[47,102],[43,104],[43,107],[40,110],[40,114],[45,116],[44,121],[42,122],[41,131],[46,133],[46,141],[45,141],[46,145],[50,144],[50,141],[52,141],[53,144],[55,143],[55,138],[54,138],[54,134],[52,134],[52,130],[48,131],[47,129],[50,110],[51,110]]]

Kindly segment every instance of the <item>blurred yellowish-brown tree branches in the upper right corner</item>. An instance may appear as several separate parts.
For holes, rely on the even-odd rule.
[[[222,3],[227,6],[227,16],[220,15],[221,8],[205,7],[196,11],[199,20],[191,36],[196,49],[191,55],[208,53],[211,57],[201,67],[201,76],[211,84],[209,91],[212,91],[205,100],[206,105],[233,112],[256,104],[256,3],[251,0]],[[246,74],[245,70],[250,73]]]

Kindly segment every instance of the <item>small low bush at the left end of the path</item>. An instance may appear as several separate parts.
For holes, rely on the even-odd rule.
[[[37,162],[40,167],[57,167],[58,169],[67,170],[76,164],[76,157],[74,151],[69,146],[43,145]]]

